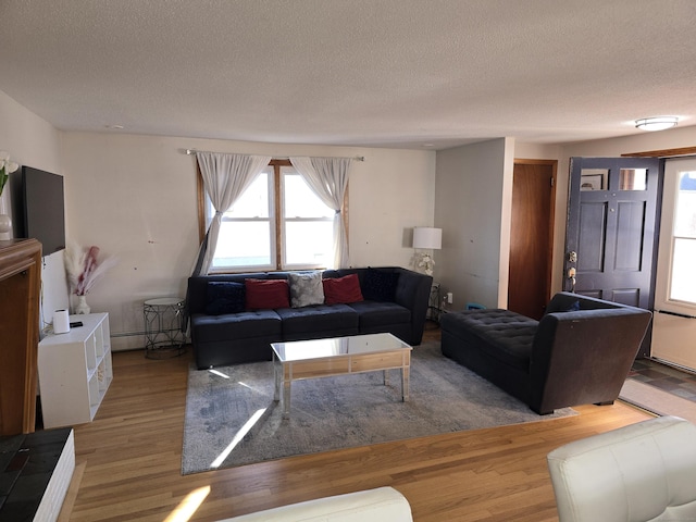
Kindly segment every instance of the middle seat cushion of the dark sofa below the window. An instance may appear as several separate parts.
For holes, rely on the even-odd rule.
[[[347,304],[278,308],[275,312],[283,321],[285,340],[309,338],[307,334],[314,337],[321,336],[321,333],[328,333],[330,336],[358,333],[358,313]]]

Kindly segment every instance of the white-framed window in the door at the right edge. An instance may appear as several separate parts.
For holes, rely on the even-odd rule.
[[[696,307],[694,259],[696,160],[671,160],[664,170],[657,286],[657,299],[667,310],[693,314]]]

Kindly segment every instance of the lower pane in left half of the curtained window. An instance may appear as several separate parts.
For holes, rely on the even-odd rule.
[[[222,223],[213,268],[268,266],[271,257],[270,222]]]

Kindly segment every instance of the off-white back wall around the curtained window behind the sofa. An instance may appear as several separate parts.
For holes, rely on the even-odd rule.
[[[64,133],[69,238],[119,264],[88,295],[114,349],[139,348],[142,301],[185,295],[198,248],[195,158],[183,150],[357,157],[349,183],[350,264],[409,266],[410,231],[432,225],[435,152]]]

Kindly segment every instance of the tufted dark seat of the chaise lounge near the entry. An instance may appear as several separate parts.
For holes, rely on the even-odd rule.
[[[500,362],[530,371],[538,321],[501,309],[467,310],[443,315],[442,328]]]

